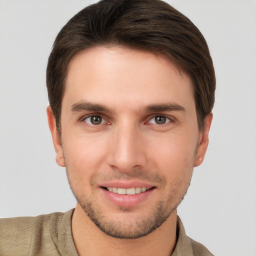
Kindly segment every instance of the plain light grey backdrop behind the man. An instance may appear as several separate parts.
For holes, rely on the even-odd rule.
[[[53,40],[86,0],[0,0],[0,216],[66,211],[55,163],[45,68]],[[217,89],[206,158],[178,208],[213,254],[256,255],[256,1],[169,0],[205,36]]]

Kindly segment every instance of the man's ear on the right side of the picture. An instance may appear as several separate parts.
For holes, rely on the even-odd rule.
[[[212,120],[212,113],[206,116],[204,120],[204,129],[200,133],[199,145],[196,151],[196,156],[194,160],[194,167],[200,165],[204,159],[206,149],[209,143],[209,129]]]

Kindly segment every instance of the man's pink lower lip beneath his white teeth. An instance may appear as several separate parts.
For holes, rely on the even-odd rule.
[[[154,188],[138,194],[117,194],[104,188],[101,188],[101,190],[110,202],[118,206],[130,207],[145,201],[147,197],[153,192]]]

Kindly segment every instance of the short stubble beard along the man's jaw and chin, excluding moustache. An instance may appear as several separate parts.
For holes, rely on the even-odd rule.
[[[177,195],[175,190],[170,191],[167,200],[158,201],[151,212],[147,214],[146,218],[139,221],[132,219],[132,222],[128,222],[125,221],[125,217],[122,220],[116,220],[114,216],[110,220],[107,219],[104,212],[100,210],[100,207],[96,202],[86,198],[84,194],[80,194],[76,191],[76,185],[71,182],[67,167],[66,172],[71,191],[76,198],[76,201],[79,203],[85,214],[93,221],[93,223],[109,236],[126,239],[134,239],[145,236],[158,228],[182,201],[191,179],[190,176],[189,182],[182,194]],[[119,211],[128,213],[130,209],[120,206]]]

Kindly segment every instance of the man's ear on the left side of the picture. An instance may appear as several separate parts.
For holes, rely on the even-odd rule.
[[[59,166],[64,167],[65,161],[63,157],[63,149],[62,149],[61,140],[57,131],[55,118],[53,116],[50,106],[47,106],[46,111],[47,111],[47,117],[48,117],[48,125],[49,125],[51,136],[52,136],[52,142],[56,152],[56,162]]]

